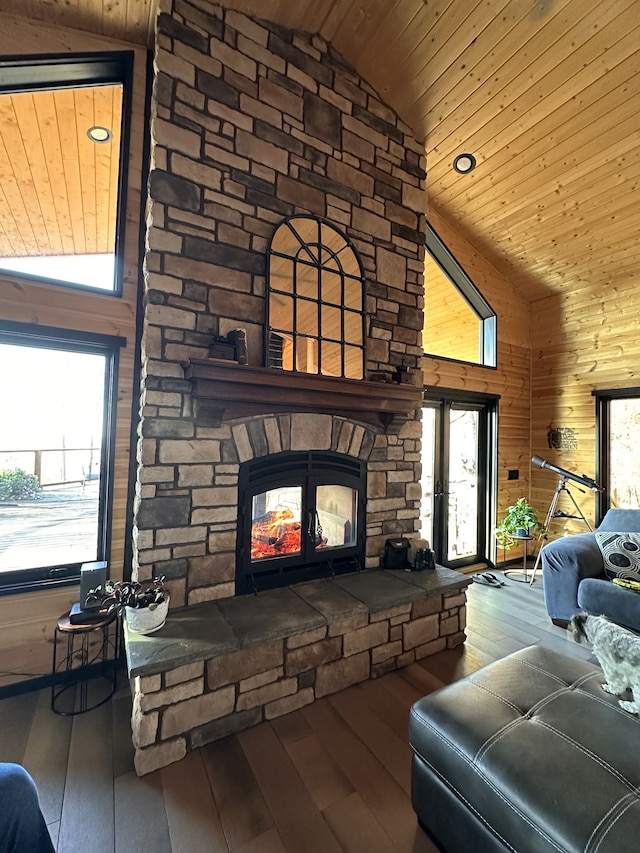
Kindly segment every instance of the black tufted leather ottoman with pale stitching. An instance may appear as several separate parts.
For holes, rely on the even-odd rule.
[[[448,853],[640,850],[640,719],[531,646],[411,709],[412,800]]]

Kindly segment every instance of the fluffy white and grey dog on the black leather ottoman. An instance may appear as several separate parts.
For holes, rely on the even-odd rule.
[[[620,696],[633,691],[633,701],[619,699],[618,703],[630,714],[640,714],[640,636],[627,631],[606,616],[576,614],[569,623],[576,643],[591,643],[606,682],[602,689]]]

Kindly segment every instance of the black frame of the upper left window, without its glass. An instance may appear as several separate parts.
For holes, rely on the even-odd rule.
[[[74,89],[101,84],[122,84],[118,199],[113,246],[113,289],[106,290],[90,284],[65,282],[58,278],[47,278],[46,276],[6,269],[2,267],[1,258],[0,276],[77,289],[83,292],[100,293],[104,296],[122,296],[134,56],[134,51],[124,50],[74,53],[73,55],[5,56],[0,59],[0,95],[52,89]]]

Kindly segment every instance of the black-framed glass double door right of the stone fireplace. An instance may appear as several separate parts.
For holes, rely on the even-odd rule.
[[[444,398],[422,410],[421,535],[436,562],[489,562],[495,402]]]

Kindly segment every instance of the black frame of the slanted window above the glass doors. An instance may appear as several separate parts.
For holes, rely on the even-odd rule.
[[[435,263],[440,267],[451,284],[457,289],[460,296],[465,300],[480,322],[480,361],[465,361],[460,358],[448,358],[447,356],[435,355],[425,350],[425,355],[433,358],[448,358],[449,361],[457,361],[462,364],[475,364],[478,367],[496,369],[498,366],[498,318],[496,312],[480,293],[471,278],[464,271],[451,250],[445,245],[437,231],[428,222],[425,227],[425,248]],[[426,302],[426,293],[425,293]],[[425,319],[426,319],[425,308]]]

